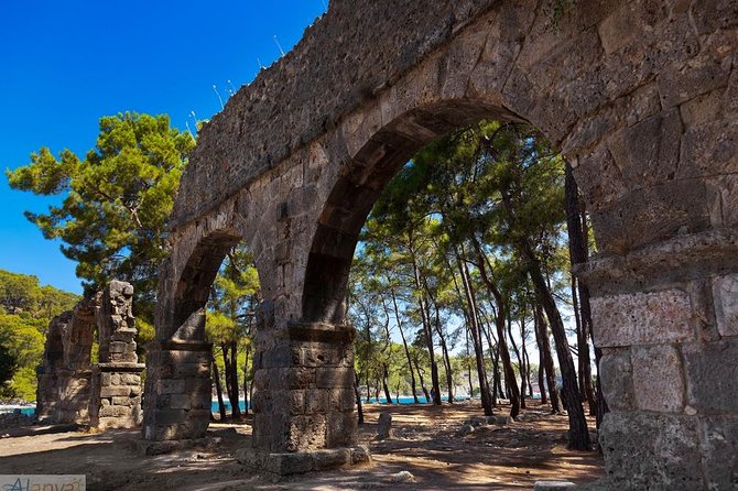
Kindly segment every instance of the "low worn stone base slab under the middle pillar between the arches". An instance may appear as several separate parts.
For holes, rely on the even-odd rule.
[[[365,446],[290,454],[270,454],[253,448],[242,448],[236,452],[236,460],[256,472],[292,476],[369,463],[371,455],[369,448]]]

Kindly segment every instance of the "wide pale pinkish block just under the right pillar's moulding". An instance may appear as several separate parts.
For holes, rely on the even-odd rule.
[[[592,298],[595,345],[599,348],[694,339],[690,294],[662,290]]]

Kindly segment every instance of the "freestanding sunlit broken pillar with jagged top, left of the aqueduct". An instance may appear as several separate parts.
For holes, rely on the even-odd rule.
[[[93,367],[90,426],[132,428],[141,423],[141,372],[135,352],[133,286],[112,281],[98,296],[99,363]]]

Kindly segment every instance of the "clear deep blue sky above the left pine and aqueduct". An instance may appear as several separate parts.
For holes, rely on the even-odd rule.
[[[98,119],[123,111],[167,113],[181,129],[220,109],[227,80],[253,79],[259,59],[289,51],[327,0],[4,2],[0,14],[0,167],[31,152],[95,145]],[[0,269],[80,292],[75,263],[45,240],[23,210],[45,197],[12,190],[0,176]]]

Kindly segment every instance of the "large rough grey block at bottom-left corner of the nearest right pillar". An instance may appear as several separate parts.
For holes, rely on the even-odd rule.
[[[653,413],[609,413],[599,429],[608,474],[619,489],[704,489],[697,421]]]

